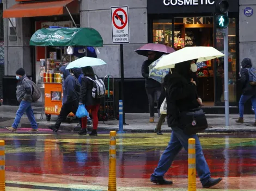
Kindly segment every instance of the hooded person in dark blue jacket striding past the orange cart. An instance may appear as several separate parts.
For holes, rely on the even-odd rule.
[[[59,68],[60,76],[63,78],[63,104],[60,110],[57,122],[54,125],[48,126],[49,129],[57,132],[62,121],[69,115],[70,112],[76,114],[79,106],[78,98],[80,97],[81,86],[79,82],[70,75],[66,66]]]

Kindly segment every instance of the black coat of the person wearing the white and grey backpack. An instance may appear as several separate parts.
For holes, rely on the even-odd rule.
[[[94,77],[90,78],[95,79]],[[82,78],[82,90],[79,101],[86,106],[100,104],[100,99],[93,98],[93,81],[86,77]]]

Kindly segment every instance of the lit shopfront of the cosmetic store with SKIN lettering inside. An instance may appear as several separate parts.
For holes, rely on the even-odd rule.
[[[236,102],[235,18],[229,20],[228,41],[229,100],[232,103]],[[213,17],[175,17],[173,20],[153,20],[153,43],[162,43],[175,50],[188,46],[212,46],[224,52],[223,35],[219,33],[214,35]],[[224,101],[224,59],[210,60],[205,62],[205,65],[197,71],[198,94],[202,97],[204,105],[222,105]]]

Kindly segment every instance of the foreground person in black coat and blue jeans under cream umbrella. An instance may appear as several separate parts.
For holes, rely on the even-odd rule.
[[[170,142],[164,150],[150,181],[157,184],[172,184],[163,178],[182,148],[188,151],[188,139],[196,139],[196,169],[203,188],[218,184],[222,179],[212,179],[203,150],[196,134],[187,135],[180,126],[180,113],[198,109],[196,82],[190,78],[190,62],[175,65],[175,72],[164,78],[166,85],[167,123],[172,128]]]

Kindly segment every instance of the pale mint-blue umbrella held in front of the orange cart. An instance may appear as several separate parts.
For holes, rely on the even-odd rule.
[[[69,65],[66,67],[66,69],[82,68],[87,66],[101,66],[106,64],[107,63],[101,59],[95,59],[95,58],[84,56],[81,59],[77,59],[75,61],[70,62]]]

